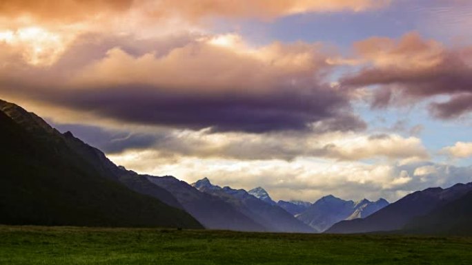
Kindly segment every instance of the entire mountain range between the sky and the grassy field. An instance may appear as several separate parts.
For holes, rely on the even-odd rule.
[[[262,187],[193,184],[115,165],[70,131],[0,100],[0,223],[284,233],[471,235],[472,183],[384,199],[275,202]]]

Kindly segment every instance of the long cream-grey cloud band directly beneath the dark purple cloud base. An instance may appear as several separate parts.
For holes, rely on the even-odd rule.
[[[280,131],[264,134],[219,132],[210,129],[156,127],[99,127],[57,124],[61,131],[119,155],[132,150],[159,150],[162,156],[225,158],[237,160],[286,160],[323,158],[336,161],[424,160],[428,152],[418,138],[395,134],[354,132]],[[283,140],[281,140],[283,139]]]

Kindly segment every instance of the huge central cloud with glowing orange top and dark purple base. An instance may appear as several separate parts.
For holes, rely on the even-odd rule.
[[[0,90],[135,124],[253,133],[366,127],[351,113],[350,94],[324,82],[332,66],[319,43],[250,47],[234,34],[171,39],[154,50],[129,42],[83,56],[72,43],[48,67],[7,61]]]

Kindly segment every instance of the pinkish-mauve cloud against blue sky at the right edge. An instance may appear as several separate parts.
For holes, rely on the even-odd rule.
[[[356,63],[362,68],[344,76],[340,83],[346,87],[375,86],[372,107],[446,96],[446,102],[431,103],[433,116],[451,119],[470,112],[471,47],[445,47],[414,32],[398,41],[373,37],[354,47]]]

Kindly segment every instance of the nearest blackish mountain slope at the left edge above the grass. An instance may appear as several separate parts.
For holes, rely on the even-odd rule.
[[[202,227],[106,176],[39,116],[0,100],[0,125],[0,223]]]

